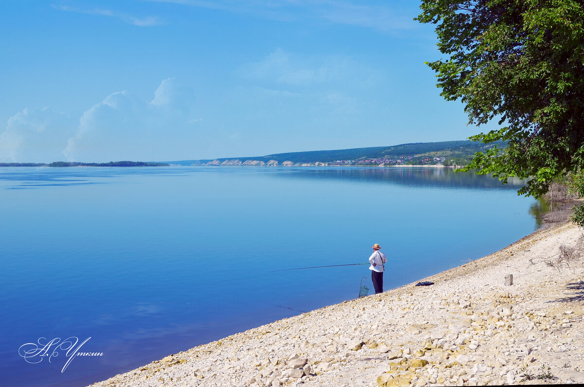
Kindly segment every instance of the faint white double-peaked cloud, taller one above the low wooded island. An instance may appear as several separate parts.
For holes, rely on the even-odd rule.
[[[69,161],[159,161],[196,144],[193,90],[169,78],[152,101],[126,91],[86,110],[64,150]]]

